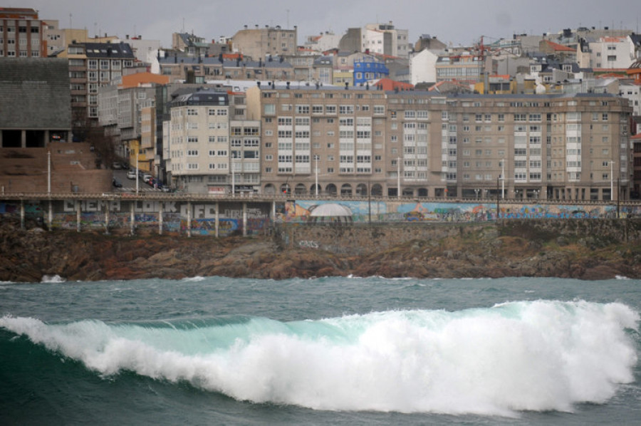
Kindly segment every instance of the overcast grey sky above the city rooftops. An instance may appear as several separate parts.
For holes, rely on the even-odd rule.
[[[187,31],[209,40],[233,36],[248,25],[293,28],[298,44],[307,36],[392,21],[410,31],[410,42],[430,34],[454,45],[486,42],[514,33],[542,34],[595,26],[637,31],[639,0],[5,0],[6,7],[28,7],[61,28],[87,28],[89,36],[142,35],[171,47],[171,34]],[[71,17],[70,17],[71,14]]]

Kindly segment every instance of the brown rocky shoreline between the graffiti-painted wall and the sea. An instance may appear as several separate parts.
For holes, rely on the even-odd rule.
[[[487,224],[458,236],[415,239],[372,254],[350,256],[288,248],[274,236],[217,239],[46,232],[35,224],[20,229],[14,218],[0,219],[0,281],[39,282],[44,276],[56,275],[68,281],[348,275],[639,279],[641,244]]]

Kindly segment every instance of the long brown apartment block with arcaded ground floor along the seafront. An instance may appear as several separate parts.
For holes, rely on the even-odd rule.
[[[630,191],[627,100],[368,88],[247,90],[261,192],[613,199]],[[316,183],[318,182],[318,184]]]

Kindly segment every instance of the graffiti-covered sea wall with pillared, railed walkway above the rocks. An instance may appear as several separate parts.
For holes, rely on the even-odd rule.
[[[340,216],[316,210],[339,204]],[[315,213],[316,210],[316,213]],[[641,217],[641,202],[416,197],[231,197],[162,192],[5,193],[0,219],[35,220],[48,229],[105,233],[163,232],[224,237],[272,232],[278,224],[452,224],[508,219],[626,219]],[[155,231],[157,230],[157,231]]]

